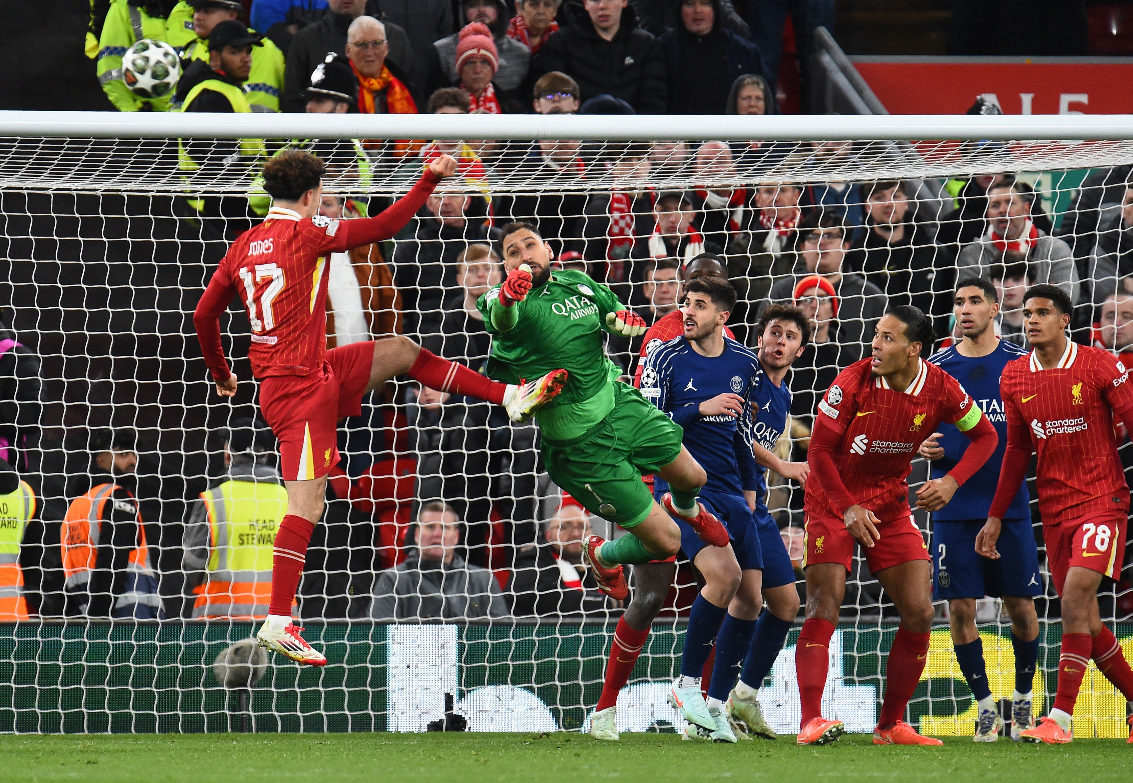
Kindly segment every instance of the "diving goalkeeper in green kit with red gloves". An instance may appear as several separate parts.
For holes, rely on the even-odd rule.
[[[604,542],[590,536],[582,556],[602,590],[623,599],[622,564],[666,560],[681,534],[670,514],[685,520],[708,544],[727,546],[727,530],[697,501],[704,468],[681,445],[682,431],[629,384],[606,358],[605,330],[621,337],[646,331],[605,286],[582,272],[551,271],[551,246],[529,223],[509,223],[501,236],[503,284],[477,306],[492,334],[488,376],[514,383],[565,368],[566,385],[536,415],[542,453],[552,480],[591,513],[632,535]],[[658,505],[641,480],[657,474],[672,492]]]

